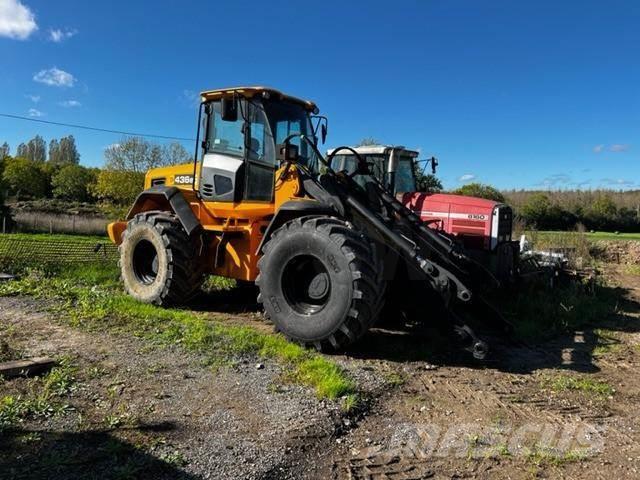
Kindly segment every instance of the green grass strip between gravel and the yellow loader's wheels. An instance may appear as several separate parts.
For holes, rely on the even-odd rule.
[[[0,295],[56,299],[61,318],[88,330],[133,334],[159,345],[178,344],[205,355],[212,365],[242,355],[283,364],[290,381],[313,388],[319,398],[356,394],[356,386],[335,362],[288,342],[283,336],[220,321],[180,309],[160,308],[125,295],[115,266],[61,269],[54,276],[31,272],[0,284]]]

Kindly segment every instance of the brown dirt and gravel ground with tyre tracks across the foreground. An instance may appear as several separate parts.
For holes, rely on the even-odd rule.
[[[350,414],[274,363],[212,369],[0,298],[12,350],[77,367],[65,414],[0,432],[0,478],[638,478],[640,276],[609,275],[621,300],[601,330],[537,346],[496,338],[482,363],[424,327],[372,331],[333,357],[366,392]],[[213,308],[267,328],[233,301]],[[0,398],[29,382],[0,383]]]

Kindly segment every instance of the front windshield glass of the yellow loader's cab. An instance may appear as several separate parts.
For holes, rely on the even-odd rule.
[[[271,132],[274,135],[276,147],[284,143],[284,140],[294,133],[306,135],[311,141],[314,141],[311,119],[302,105],[275,100],[263,100],[262,103]],[[319,173],[319,161],[311,146],[300,137],[295,137],[290,142],[298,146],[300,163],[311,172]]]

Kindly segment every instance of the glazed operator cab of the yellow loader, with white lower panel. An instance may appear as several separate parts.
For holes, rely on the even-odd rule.
[[[204,202],[274,201],[276,147],[293,133],[313,136],[309,106],[275,95],[206,100],[199,193]],[[292,140],[300,162],[315,170],[306,143]]]

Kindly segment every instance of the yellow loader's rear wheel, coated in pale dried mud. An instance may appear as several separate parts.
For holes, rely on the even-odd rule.
[[[127,224],[120,244],[124,288],[136,300],[177,305],[202,285],[194,242],[168,212],[139,213]]]

